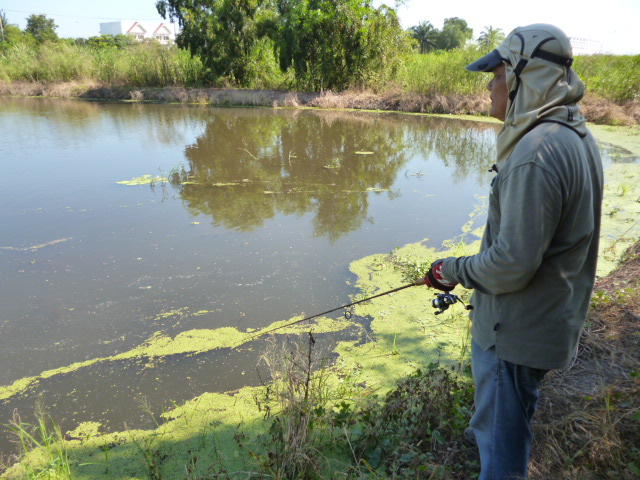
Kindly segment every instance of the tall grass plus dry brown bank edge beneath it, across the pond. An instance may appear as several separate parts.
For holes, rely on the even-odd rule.
[[[242,85],[230,78],[213,78],[198,57],[191,57],[188,51],[175,46],[167,48],[141,43],[116,49],[64,42],[40,47],[19,43],[0,51],[0,84],[4,83],[0,85],[0,92],[201,104],[309,105],[478,114],[486,112],[488,107],[486,84],[489,76],[464,68],[478,55],[474,47],[425,55],[413,53],[401,59],[401,67],[392,78],[376,81],[375,92],[354,84],[345,92],[311,92],[312,95],[289,92],[287,96],[286,91],[295,86],[294,78],[291,72],[283,73],[278,69],[273,49],[267,41],[256,47],[250,72]],[[591,121],[611,125],[640,123],[640,55],[577,57],[574,68],[587,87],[582,103],[583,111]],[[31,87],[21,83],[31,84]],[[61,87],[69,83],[75,87]],[[231,95],[208,91],[212,87],[240,90]],[[99,93],[96,92],[98,89],[101,89]],[[254,92],[244,92],[246,89]],[[273,94],[260,94],[255,90],[284,92],[274,99]]]

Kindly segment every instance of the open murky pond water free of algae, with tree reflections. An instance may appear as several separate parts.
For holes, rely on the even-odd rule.
[[[487,193],[497,129],[0,98],[0,385],[113,357],[160,331],[244,331],[348,303],[352,261],[460,235]],[[118,183],[144,175],[158,178]],[[258,383],[260,353],[68,368],[4,395],[0,424],[15,408],[28,419],[41,398],[63,430],[144,427],[142,404],[157,413]]]

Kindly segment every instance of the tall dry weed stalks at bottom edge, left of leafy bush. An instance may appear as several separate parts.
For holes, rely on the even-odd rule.
[[[261,437],[263,449],[252,455],[270,478],[328,478],[325,474],[336,467],[329,458],[343,456],[343,430],[353,422],[351,382],[337,389],[329,385],[325,359],[311,333],[307,348],[300,347],[272,343],[263,356],[273,381],[256,402],[269,429]]]

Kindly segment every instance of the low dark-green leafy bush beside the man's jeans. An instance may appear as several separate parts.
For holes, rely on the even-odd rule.
[[[382,404],[359,412],[359,454],[392,478],[473,478],[475,448],[461,444],[473,392],[470,381],[437,364],[401,379]]]

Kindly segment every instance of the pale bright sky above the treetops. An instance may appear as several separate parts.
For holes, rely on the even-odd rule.
[[[383,0],[374,0],[379,5]],[[59,37],[92,37],[100,34],[101,22],[138,20],[167,22],[155,8],[156,0],[0,0],[9,23],[21,29],[32,14],[53,18]],[[394,5],[394,0],[388,0]],[[474,38],[488,26],[507,34],[520,25],[552,23],[570,37],[578,37],[600,45],[602,53],[640,54],[640,21],[638,0],[407,0],[398,7],[404,28],[429,21],[442,28],[446,18],[459,17],[473,29]]]

